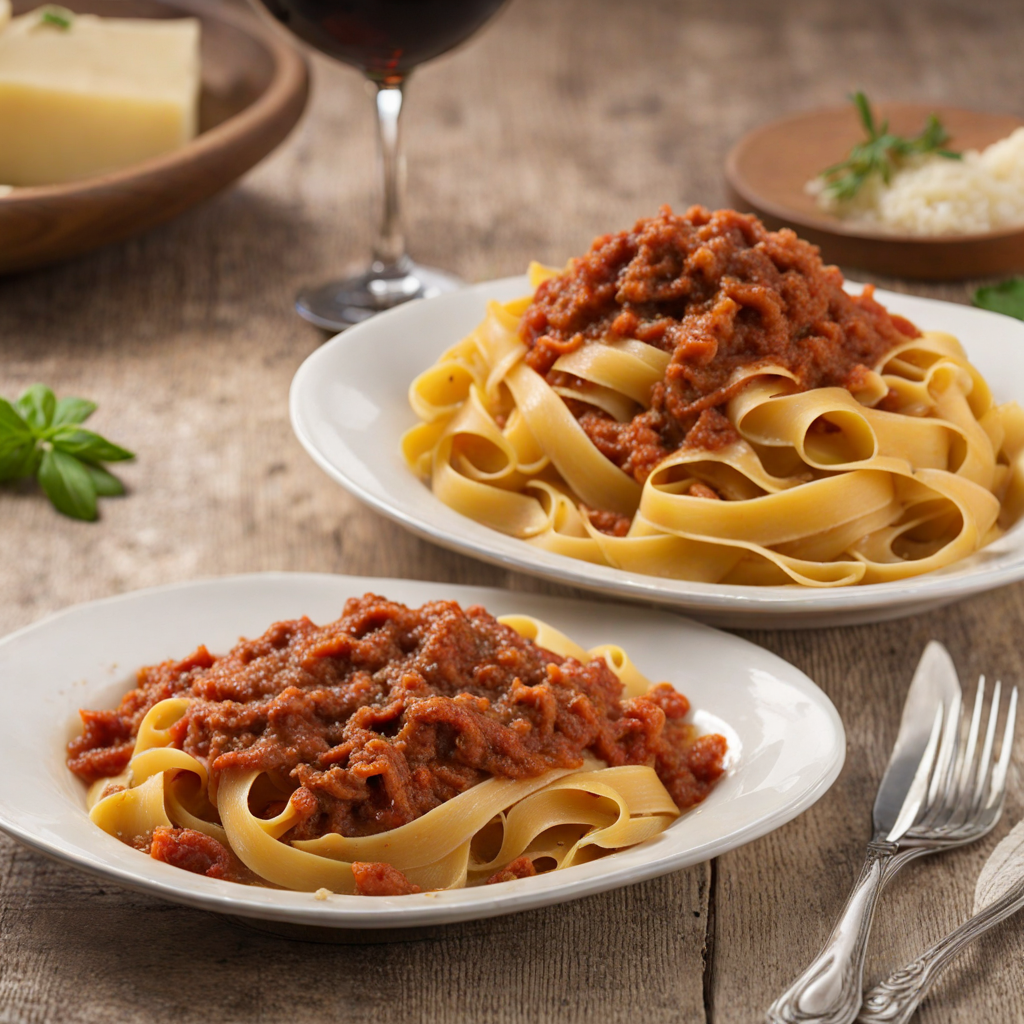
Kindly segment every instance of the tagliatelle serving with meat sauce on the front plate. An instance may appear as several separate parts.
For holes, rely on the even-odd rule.
[[[417,611],[370,595],[339,624],[276,624],[221,659],[200,648],[143,670],[118,712],[83,713],[69,763],[96,776],[92,821],[214,878],[398,895],[633,846],[722,771],[724,740],[697,736],[682,722],[685,698],[652,688],[621,647],[585,651],[530,616],[495,621],[454,602]],[[328,675],[347,682],[328,686]],[[494,770],[478,771],[484,763]],[[441,799],[437,779],[464,787]],[[433,806],[387,827],[410,794]],[[345,823],[332,829],[329,813]]]

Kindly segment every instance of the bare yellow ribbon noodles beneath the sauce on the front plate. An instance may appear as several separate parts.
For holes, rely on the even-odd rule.
[[[605,666],[626,700],[642,699],[651,690],[650,681],[621,647],[606,644],[586,651],[528,615],[497,623],[496,629],[507,627],[559,658]],[[505,881],[538,869],[560,870],[642,843],[680,814],[653,759],[608,766],[585,752],[578,768],[484,778],[395,828],[289,840],[303,817],[301,800],[296,801],[305,791],[296,790],[294,780],[281,772],[259,767],[213,771],[209,759],[181,749],[182,726],[198,699],[171,696],[145,712],[126,768],[90,786],[89,816],[111,836],[139,849],[147,849],[155,836],[182,829],[202,834],[229,850],[249,872],[245,881],[254,884],[351,894],[362,891],[353,871],[360,864],[400,871],[410,888],[399,891]],[[695,735],[694,727],[686,728]],[[721,772],[720,762],[719,756],[712,775]]]

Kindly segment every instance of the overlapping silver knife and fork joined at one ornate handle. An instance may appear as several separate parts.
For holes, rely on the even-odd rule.
[[[853,1021],[861,1006],[864,953],[882,889],[913,858],[972,843],[998,821],[1017,707],[1015,687],[993,767],[1000,691],[996,683],[979,748],[982,678],[962,742],[956,670],[942,644],[933,640],[925,648],[874,800],[874,833],[860,878],[821,951],[769,1008],[771,1024]]]

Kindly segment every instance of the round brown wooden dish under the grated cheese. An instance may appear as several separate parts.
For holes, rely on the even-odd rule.
[[[1024,122],[1002,114],[981,114],[937,103],[881,103],[901,134],[915,134],[929,114],[938,114],[954,150],[978,150],[1005,138]],[[1024,228],[986,234],[920,238],[888,234],[823,213],[804,185],[822,168],[843,160],[863,138],[852,104],[810,111],[775,121],[744,135],[725,165],[737,209],[757,213],[777,229],[793,227],[821,247],[830,263],[896,278],[948,281],[1024,269]]]

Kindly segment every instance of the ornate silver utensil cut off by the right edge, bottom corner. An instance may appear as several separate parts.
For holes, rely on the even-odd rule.
[[[974,916],[865,996],[862,1024],[905,1024],[946,966],[979,935],[1024,908],[1024,821],[992,851],[978,876]]]

